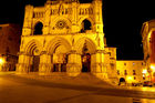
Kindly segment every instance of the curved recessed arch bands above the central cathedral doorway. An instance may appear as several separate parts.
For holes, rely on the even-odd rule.
[[[60,45],[64,45],[68,52],[71,50],[71,44],[68,40],[63,38],[54,38],[45,45],[45,50],[48,53],[52,54],[55,52],[56,48]]]

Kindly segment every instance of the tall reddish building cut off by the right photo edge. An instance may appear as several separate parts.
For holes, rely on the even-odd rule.
[[[141,33],[145,69],[149,73],[149,80],[155,82],[155,20],[144,22]]]

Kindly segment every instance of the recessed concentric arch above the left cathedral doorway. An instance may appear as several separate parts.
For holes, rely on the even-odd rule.
[[[40,54],[41,49],[42,49],[42,47],[39,43],[39,41],[31,40],[29,43],[27,43],[24,51],[25,51],[27,54],[33,55],[34,52],[37,52],[38,54]]]

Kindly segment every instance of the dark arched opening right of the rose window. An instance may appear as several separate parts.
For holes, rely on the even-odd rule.
[[[92,30],[92,24],[89,20],[83,20],[81,32],[85,32],[86,30]]]

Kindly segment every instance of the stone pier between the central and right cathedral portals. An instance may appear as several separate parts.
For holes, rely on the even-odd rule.
[[[82,69],[81,54],[72,50],[68,56],[66,73],[70,76],[76,76],[78,74],[81,73],[81,69]]]

